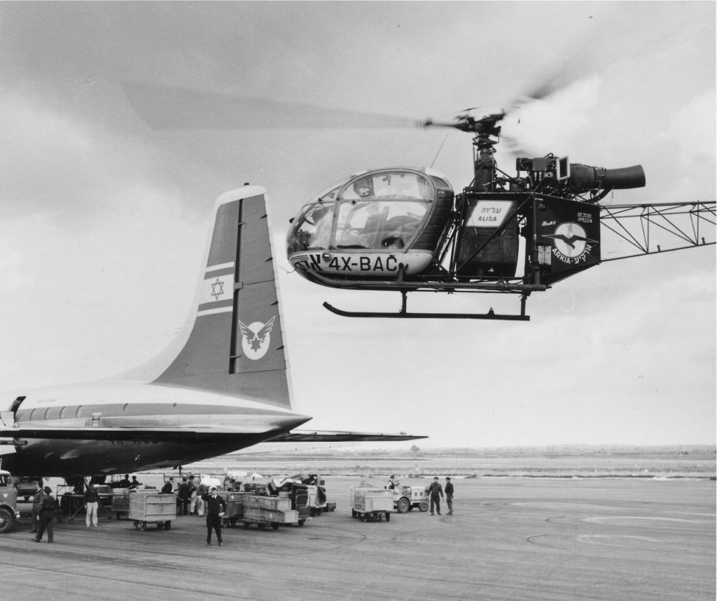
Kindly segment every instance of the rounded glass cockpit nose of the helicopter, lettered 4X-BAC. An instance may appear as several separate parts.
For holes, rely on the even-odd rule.
[[[435,260],[453,204],[432,169],[364,171],[331,186],[292,220],[287,255],[309,280],[395,280]],[[324,283],[324,282],[321,282]]]

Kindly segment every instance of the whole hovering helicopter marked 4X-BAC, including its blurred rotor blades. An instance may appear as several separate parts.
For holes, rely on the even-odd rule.
[[[473,180],[462,190],[456,192],[432,167],[359,171],[311,197],[290,219],[287,257],[295,272],[312,283],[401,295],[401,308],[395,313],[344,311],[323,303],[341,316],[508,321],[529,321],[526,301],[531,294],[602,262],[715,244],[714,201],[601,202],[615,190],[645,186],[640,165],[606,169],[554,153],[523,153],[516,158],[516,175],[498,167],[501,122],[515,108],[543,100],[561,85],[538,85],[514,98],[507,111],[475,116],[475,109],[467,109],[453,120],[440,121],[282,103],[184,85],[123,82],[138,114],[159,130],[420,127],[470,134]],[[264,111],[262,118],[255,117],[257,110]],[[621,240],[627,249],[622,255],[605,252],[607,234]],[[670,238],[669,248],[660,243],[665,236]],[[409,311],[408,293],[424,291],[517,295],[520,312]]]

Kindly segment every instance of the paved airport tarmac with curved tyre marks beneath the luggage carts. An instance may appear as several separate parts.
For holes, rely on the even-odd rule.
[[[426,484],[404,481],[404,484]],[[455,515],[351,518],[359,478],[326,478],[335,512],[305,526],[170,530],[63,521],[34,543],[0,536],[4,598],[204,600],[714,600],[715,483],[456,478]],[[442,483],[444,481],[442,480]],[[22,503],[27,510],[29,504]]]

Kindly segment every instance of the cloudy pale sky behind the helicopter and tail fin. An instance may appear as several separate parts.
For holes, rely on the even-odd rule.
[[[308,283],[284,239],[304,202],[362,169],[432,164],[457,191],[470,182],[467,134],[338,128],[336,110],[447,119],[545,81],[563,87],[505,123],[534,156],[642,164],[647,186],[616,204],[713,201],[715,9],[0,3],[0,389],[110,377],[166,346],[191,311],[214,200],[248,181],[269,192],[307,427],[429,436],[422,447],[713,444],[715,246],[605,262],[531,296],[529,322],[351,320],[321,304],[398,311],[400,297]],[[153,128],[126,82],[265,108],[251,129]],[[290,123],[301,104],[326,126]],[[512,172],[507,145],[496,158]],[[409,295],[412,311],[518,303]]]

